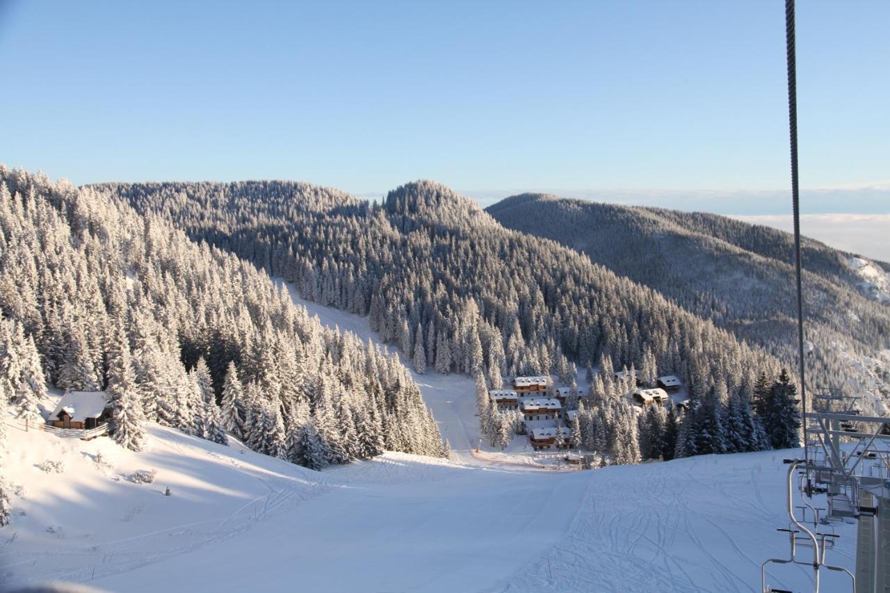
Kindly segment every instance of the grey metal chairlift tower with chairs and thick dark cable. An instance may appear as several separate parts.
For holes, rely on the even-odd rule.
[[[794,214],[795,272],[797,280],[797,348],[799,355],[800,404],[804,421],[804,458],[786,459],[788,471],[787,511],[788,558],[771,558],[761,565],[765,593],[779,593],[766,585],[766,566],[810,565],[813,592],[820,591],[821,569],[846,573],[854,593],[890,593],[890,418],[864,416],[859,399],[841,394],[816,394],[812,410],[805,380],[805,355],[813,353],[804,339],[804,306],[801,288],[800,197],[797,179],[797,74],[795,0],[785,0],[786,57],[788,68],[789,132],[791,144],[791,194]],[[798,471],[799,470],[799,471]],[[794,477],[805,508],[813,511],[813,530],[794,511]],[[814,496],[825,496],[826,506],[813,506]],[[825,510],[824,516],[819,510]],[[837,534],[833,522],[853,519],[857,524],[855,574],[825,561]],[[822,531],[819,531],[822,528]],[[812,548],[812,560],[797,557],[797,548]]]

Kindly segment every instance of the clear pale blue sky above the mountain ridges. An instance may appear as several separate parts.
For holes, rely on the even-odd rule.
[[[0,162],[53,178],[789,186],[780,0],[0,3]],[[888,187],[888,23],[798,3],[805,187]]]

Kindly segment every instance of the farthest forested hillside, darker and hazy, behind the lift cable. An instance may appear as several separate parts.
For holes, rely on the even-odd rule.
[[[702,213],[625,207],[541,194],[487,210],[517,231],[557,240],[621,276],[658,290],[700,317],[796,361],[793,238]],[[854,393],[845,353],[890,347],[890,305],[863,294],[853,256],[803,242],[806,337],[812,386]],[[878,263],[878,265],[883,265]]]

